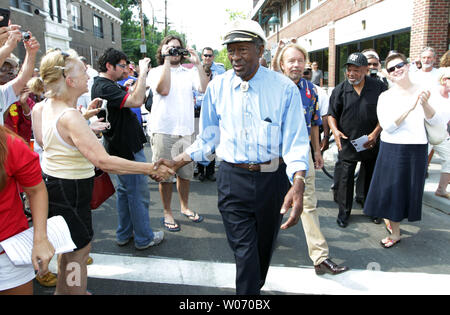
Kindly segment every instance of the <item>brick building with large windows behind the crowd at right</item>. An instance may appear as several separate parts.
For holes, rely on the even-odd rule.
[[[272,16],[279,25],[269,24]],[[431,46],[440,57],[450,42],[449,0],[254,0],[252,18],[272,51],[278,38],[297,38],[329,87],[344,79],[343,64],[354,51],[375,48],[384,59],[395,49],[415,59]]]

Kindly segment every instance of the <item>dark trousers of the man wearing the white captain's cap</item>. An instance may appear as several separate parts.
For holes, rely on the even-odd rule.
[[[289,189],[286,165],[268,173],[222,162],[217,189],[219,210],[236,261],[236,294],[258,295],[269,270],[282,221],[280,209]]]

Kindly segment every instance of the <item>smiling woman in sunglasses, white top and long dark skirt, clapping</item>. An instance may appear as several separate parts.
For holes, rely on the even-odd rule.
[[[428,153],[424,120],[432,125],[440,120],[428,104],[430,92],[410,81],[403,54],[388,56],[386,70],[394,85],[378,99],[383,131],[364,213],[385,218],[390,235],[381,245],[390,248],[400,242],[403,219],[421,219]]]

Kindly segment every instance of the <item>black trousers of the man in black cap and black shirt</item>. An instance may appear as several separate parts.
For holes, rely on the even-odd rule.
[[[364,168],[364,197],[367,196],[372,180],[373,170],[375,168],[376,159],[361,161],[361,167]],[[347,221],[353,206],[353,190],[355,184],[355,168],[358,161],[340,161],[340,170],[337,177],[337,200],[339,205],[338,219]]]

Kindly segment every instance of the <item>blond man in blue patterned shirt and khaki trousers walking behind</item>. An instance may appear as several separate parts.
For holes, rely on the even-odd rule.
[[[289,77],[298,87],[302,97],[306,126],[310,134],[310,141],[314,151],[309,158],[309,171],[306,176],[306,187],[303,194],[303,213],[301,220],[308,244],[309,257],[314,263],[316,274],[329,273],[336,275],[348,270],[345,266],[338,266],[329,258],[329,248],[320,230],[319,214],[317,213],[317,197],[315,188],[314,168],[323,167],[320,152],[319,126],[322,124],[319,111],[318,94],[314,85],[302,78],[307,60],[307,52],[298,44],[288,44],[281,50],[279,66],[284,75]],[[278,61],[275,61],[278,62]],[[300,105],[299,105],[300,106]]]

